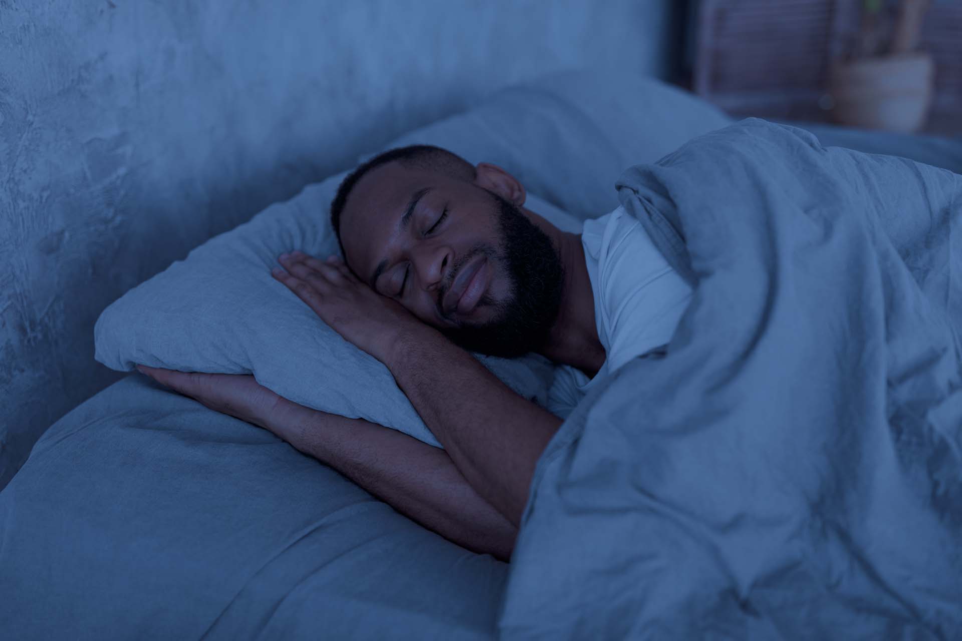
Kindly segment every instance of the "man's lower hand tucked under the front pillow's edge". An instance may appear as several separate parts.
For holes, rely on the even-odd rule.
[[[190,396],[204,407],[270,431],[275,430],[268,425],[284,424],[277,421],[279,414],[301,407],[267,389],[251,375],[178,372],[146,365],[136,367],[141,374],[184,396]],[[292,436],[277,435],[285,440],[290,440],[288,436]]]

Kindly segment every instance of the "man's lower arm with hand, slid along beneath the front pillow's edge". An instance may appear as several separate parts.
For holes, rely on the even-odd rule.
[[[304,407],[251,375],[137,369],[205,407],[274,432],[455,543],[511,557],[518,530],[478,496],[443,450],[362,419]]]

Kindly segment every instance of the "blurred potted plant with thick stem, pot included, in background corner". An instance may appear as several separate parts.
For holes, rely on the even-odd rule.
[[[916,51],[927,9],[928,0],[899,0],[891,23],[884,0],[863,0],[854,55],[829,70],[836,122],[903,133],[922,128],[934,77],[931,56]]]

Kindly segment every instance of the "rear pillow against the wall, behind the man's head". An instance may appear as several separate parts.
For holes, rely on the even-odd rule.
[[[618,70],[565,71],[498,91],[477,107],[400,136],[470,162],[494,162],[578,220],[620,206],[615,182],[734,120],[688,91]]]

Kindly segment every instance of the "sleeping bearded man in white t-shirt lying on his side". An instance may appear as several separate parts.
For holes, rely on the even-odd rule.
[[[285,438],[426,527],[509,558],[544,447],[594,382],[668,343],[688,285],[623,210],[582,234],[524,209],[490,163],[443,149],[389,151],[331,206],[343,261],[282,255],[274,277],[383,362],[444,449],[302,407],[252,377],[140,368],[208,407]],[[537,352],[562,367],[548,407],[468,351]]]

